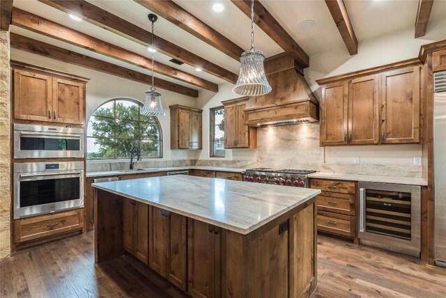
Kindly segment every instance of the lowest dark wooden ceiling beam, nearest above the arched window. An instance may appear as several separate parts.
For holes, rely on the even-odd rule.
[[[152,83],[152,77],[150,75],[136,72],[128,68],[123,68],[122,66],[92,58],[90,56],[72,52],[68,49],[49,45],[48,43],[34,40],[32,38],[20,36],[16,33],[10,33],[10,45],[15,49],[22,49],[26,52],[53,58],[74,65],[79,65],[91,70],[97,70],[98,72],[105,72],[109,75],[114,75],[123,79],[130,79],[132,81],[137,81],[139,83],[148,85]],[[187,95],[190,97],[198,97],[198,91],[192,88],[181,86],[164,79],[159,79],[157,77],[155,77],[154,80],[155,86],[157,88]]]

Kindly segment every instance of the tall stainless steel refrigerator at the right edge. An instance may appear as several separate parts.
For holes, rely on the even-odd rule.
[[[446,72],[434,74],[433,162],[435,262],[446,267]]]

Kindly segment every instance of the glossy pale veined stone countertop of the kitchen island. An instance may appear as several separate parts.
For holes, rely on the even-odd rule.
[[[93,187],[243,235],[321,193],[187,175],[101,182]]]

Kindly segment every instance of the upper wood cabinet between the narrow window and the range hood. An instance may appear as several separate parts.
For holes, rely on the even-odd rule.
[[[256,127],[245,125],[248,98],[228,100],[224,105],[224,148],[257,148]]]

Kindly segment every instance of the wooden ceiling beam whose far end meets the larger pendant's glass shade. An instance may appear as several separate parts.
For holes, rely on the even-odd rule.
[[[202,22],[199,18],[187,12],[172,0],[134,0],[163,19],[176,24],[181,29],[203,40],[231,58],[240,60],[244,52],[241,47],[231,42],[221,33]]]

